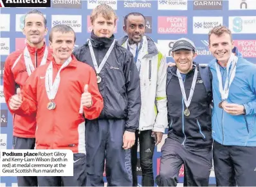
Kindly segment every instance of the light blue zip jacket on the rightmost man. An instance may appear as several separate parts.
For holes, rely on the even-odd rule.
[[[223,145],[256,147],[256,65],[242,58],[235,48],[238,57],[235,78],[230,85],[228,103],[244,105],[246,114],[234,116],[219,108],[221,94],[215,64],[212,60],[208,65],[212,72],[214,109],[212,112],[212,138]],[[218,64],[219,66],[219,64]],[[226,67],[221,67],[223,87],[226,80]]]

